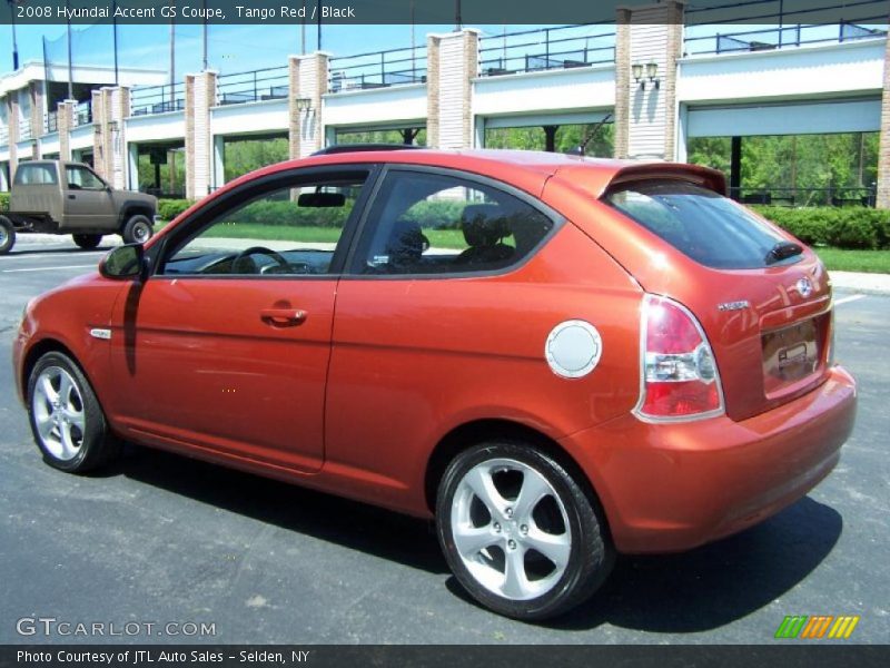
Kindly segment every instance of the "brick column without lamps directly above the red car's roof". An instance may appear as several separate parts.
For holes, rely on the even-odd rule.
[[[479,67],[478,31],[431,35],[426,49],[426,143],[432,148],[469,148],[473,79]]]

